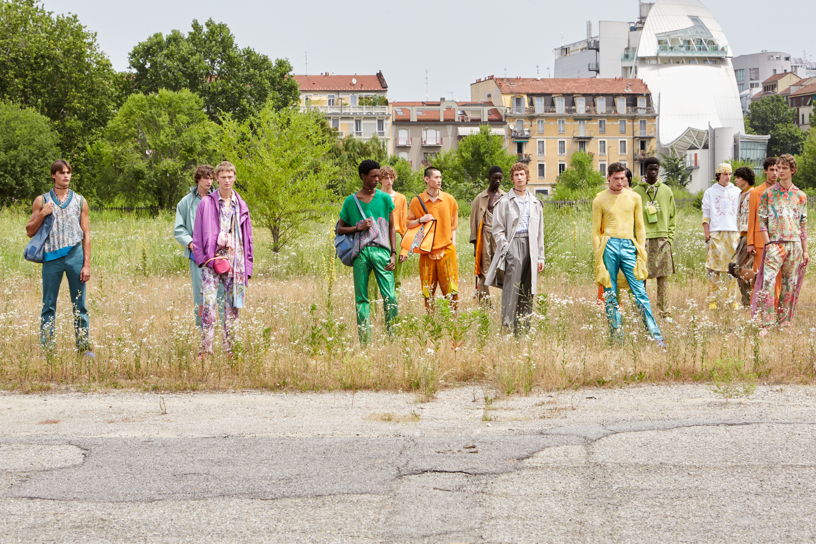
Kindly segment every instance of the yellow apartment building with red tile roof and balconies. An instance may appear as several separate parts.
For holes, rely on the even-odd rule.
[[[503,108],[508,149],[529,163],[540,194],[552,191],[576,151],[592,153],[604,174],[623,162],[643,175],[643,161],[654,155],[657,115],[640,79],[490,76],[470,89],[472,98]]]

